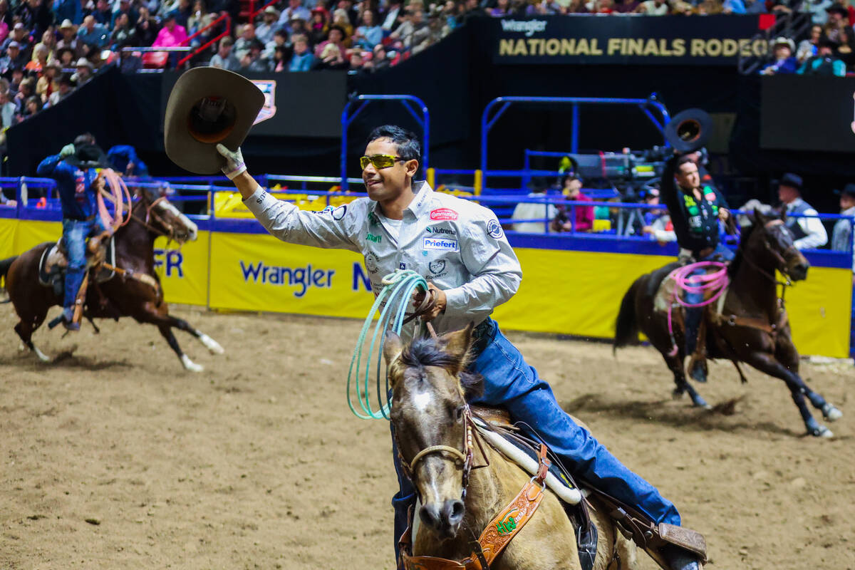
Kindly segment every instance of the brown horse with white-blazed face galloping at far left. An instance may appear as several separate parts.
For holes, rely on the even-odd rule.
[[[139,191],[131,219],[115,232],[115,275],[102,283],[90,281],[86,290],[84,316],[90,321],[118,320],[119,317],[129,316],[137,322],[155,325],[184,367],[201,372],[203,367],[184,354],[172,329],[189,332],[213,354],[222,354],[222,347],[185,320],[169,315],[154,261],[156,238],[166,236],[183,244],[195,240],[196,234],[196,224],[181,214],[165,197],[155,199],[147,192]],[[21,319],[15,325],[15,332],[21,337],[24,346],[42,361],[50,361],[50,358],[32,344],[32,333],[44,322],[48,309],[62,305],[62,295],[58,295],[53,287],[42,285],[38,279],[39,260],[44,250],[53,245],[50,242],[39,244],[20,256],[0,261],[0,277],[6,277],[9,300]]]

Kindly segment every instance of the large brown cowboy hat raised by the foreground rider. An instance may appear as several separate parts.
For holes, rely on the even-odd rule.
[[[163,127],[167,156],[192,173],[219,173],[223,158],[216,144],[236,150],[263,105],[262,91],[242,75],[192,68],[169,94]]]

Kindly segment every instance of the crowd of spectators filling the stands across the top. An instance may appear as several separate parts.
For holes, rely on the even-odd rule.
[[[133,73],[187,55],[134,47],[204,48],[190,65],[237,72],[370,73],[477,15],[799,10],[811,13],[810,35],[776,38],[761,73],[843,75],[855,65],[855,9],[845,0],[277,0],[245,23],[239,9],[238,0],[0,0],[0,126],[55,105],[105,65]]]

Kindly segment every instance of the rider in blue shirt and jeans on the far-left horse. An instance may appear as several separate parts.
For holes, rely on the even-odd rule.
[[[38,165],[38,175],[56,180],[62,203],[62,239],[68,255],[65,294],[62,302],[62,326],[79,331],[74,322],[74,306],[86,272],[86,238],[107,232],[97,213],[97,192],[103,186],[97,167],[104,167],[103,151],[91,134],[66,144],[58,155],[48,156]]]

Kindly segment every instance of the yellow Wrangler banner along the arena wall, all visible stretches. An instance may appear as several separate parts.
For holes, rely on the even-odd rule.
[[[57,222],[0,219],[0,258],[61,234]],[[363,258],[350,251],[226,232],[199,232],[196,242],[164,248],[165,240],[158,239],[155,265],[171,303],[357,319],[372,303]],[[621,299],[634,279],[672,261],[568,250],[517,249],[516,254],[524,279],[516,296],[496,309],[501,326],[593,338],[613,336]],[[799,352],[848,356],[851,305],[848,269],[811,267],[808,279],[787,291]]]

